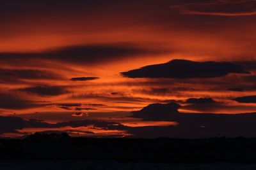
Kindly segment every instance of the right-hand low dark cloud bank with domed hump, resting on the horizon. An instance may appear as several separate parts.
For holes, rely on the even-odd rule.
[[[157,104],[158,105],[158,104]],[[150,104],[144,109],[133,112],[132,117],[141,120],[172,121],[177,125],[157,127],[134,127],[129,132],[134,138],[211,138],[216,136],[227,137],[253,137],[252,131],[255,126],[256,113],[242,114],[212,114],[212,113],[180,113],[175,108],[169,110],[168,104],[152,107]],[[202,104],[201,104],[202,106]],[[154,114],[152,116],[152,114]]]

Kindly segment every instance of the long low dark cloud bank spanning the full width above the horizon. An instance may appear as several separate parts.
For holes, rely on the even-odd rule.
[[[24,120],[17,117],[0,117],[0,134],[5,132],[19,132],[29,128],[61,128],[92,126],[92,129],[120,130],[132,134],[130,138],[210,138],[216,136],[253,137],[256,128],[256,113],[236,115],[211,113],[180,113],[179,104],[150,104],[140,111],[133,112],[132,117],[141,120],[164,120],[177,122],[176,125],[159,127],[156,125],[144,127],[128,127],[117,122],[100,120],[74,120],[49,124],[37,120]],[[81,115],[77,113],[76,115]],[[73,131],[73,130],[71,130]],[[67,132],[69,132],[67,130]],[[83,131],[81,131],[83,132]]]

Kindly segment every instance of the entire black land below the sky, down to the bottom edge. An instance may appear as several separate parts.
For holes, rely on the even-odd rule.
[[[256,169],[256,138],[0,139],[0,169]]]

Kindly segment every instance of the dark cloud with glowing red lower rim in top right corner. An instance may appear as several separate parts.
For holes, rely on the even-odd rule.
[[[182,1],[181,1],[182,2]],[[185,15],[217,15],[217,16],[246,16],[256,15],[256,2],[253,0],[212,0],[190,1],[170,6]]]

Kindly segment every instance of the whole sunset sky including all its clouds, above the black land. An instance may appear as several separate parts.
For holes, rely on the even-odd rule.
[[[3,0],[0,137],[256,136],[255,0]]]

